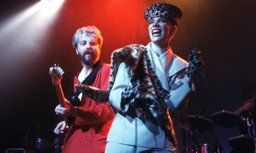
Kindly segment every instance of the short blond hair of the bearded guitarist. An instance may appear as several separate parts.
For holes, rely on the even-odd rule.
[[[96,37],[96,39],[100,45],[100,48],[101,48],[103,38],[102,38],[100,30],[98,28],[96,28],[95,26],[86,26],[86,27],[82,27],[82,28],[79,28],[78,30],[76,30],[76,33],[73,37],[73,47],[77,48],[79,37],[83,33],[85,33],[87,36]]]

